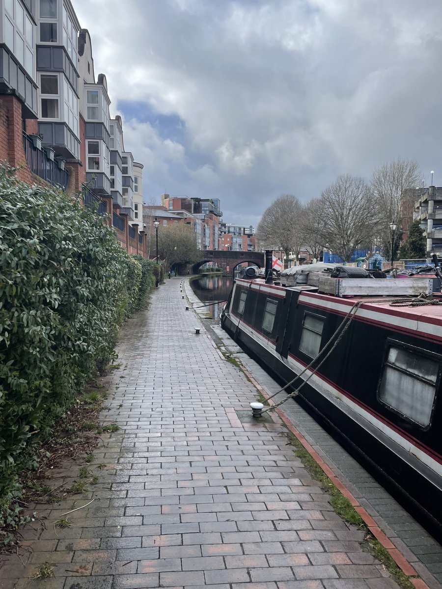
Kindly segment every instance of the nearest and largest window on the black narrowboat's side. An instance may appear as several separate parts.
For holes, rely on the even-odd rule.
[[[402,346],[390,346],[378,391],[392,411],[421,427],[430,425],[440,362]]]

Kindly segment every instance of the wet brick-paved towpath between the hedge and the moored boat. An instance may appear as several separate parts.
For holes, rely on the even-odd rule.
[[[124,330],[103,411],[121,429],[95,452],[99,483],[74,507],[94,502],[64,529],[54,522],[72,500],[47,506],[45,530],[25,535],[24,565],[2,561],[1,589],[397,587],[306,473],[282,422],[236,413],[256,389],[204,329],[195,334],[200,320],[182,297],[181,280],[167,280]],[[31,581],[42,562],[55,577]]]

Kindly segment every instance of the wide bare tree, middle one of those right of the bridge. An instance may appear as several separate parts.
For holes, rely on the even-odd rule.
[[[349,262],[358,247],[369,246],[378,230],[374,197],[364,178],[339,176],[321,194],[323,226],[320,237],[326,247]]]

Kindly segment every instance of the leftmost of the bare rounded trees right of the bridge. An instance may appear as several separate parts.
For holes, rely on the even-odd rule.
[[[283,250],[286,259],[295,252],[299,260],[299,250],[304,244],[302,231],[302,204],[293,194],[281,194],[273,201],[256,228],[256,237],[262,247]]]

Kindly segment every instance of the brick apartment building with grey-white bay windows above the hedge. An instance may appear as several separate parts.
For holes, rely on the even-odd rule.
[[[70,0],[0,0],[0,161],[94,208],[128,252],[147,255],[143,164],[124,151],[104,74]]]

